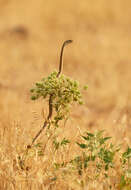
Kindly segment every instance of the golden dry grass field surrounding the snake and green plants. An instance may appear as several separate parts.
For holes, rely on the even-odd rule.
[[[65,48],[63,73],[88,91],[59,135],[75,142],[80,131],[105,129],[114,143],[131,145],[130,6],[129,0],[0,0],[1,190],[81,189],[71,179],[50,182],[50,142],[44,158],[27,160],[29,171],[17,163],[48,112],[44,102],[30,100],[30,88],[58,69],[65,40],[73,43]],[[44,132],[39,141],[46,143]],[[71,144],[68,156],[76,152]]]

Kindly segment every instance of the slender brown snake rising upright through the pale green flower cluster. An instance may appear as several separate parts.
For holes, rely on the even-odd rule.
[[[57,74],[57,77],[60,76],[61,72],[62,72],[62,64],[63,64],[63,50],[64,47],[68,44],[72,43],[72,40],[67,40],[63,43],[62,48],[61,48],[61,53],[60,53],[60,62],[59,62],[59,71]],[[34,142],[36,141],[36,139],[39,137],[39,135],[42,133],[42,131],[44,130],[44,128],[47,126],[47,124],[50,122],[50,119],[52,117],[52,113],[53,113],[53,106],[52,106],[52,101],[53,101],[53,94],[50,95],[49,97],[49,114],[47,119],[45,120],[43,127],[39,130],[39,132],[36,134],[36,136],[33,138],[32,140],[32,144],[31,146],[34,144]]]

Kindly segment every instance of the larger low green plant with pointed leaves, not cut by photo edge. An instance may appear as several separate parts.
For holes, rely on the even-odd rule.
[[[76,164],[78,173],[82,174],[86,168],[94,163],[94,178],[98,177],[101,171],[107,177],[108,170],[114,167],[114,157],[119,151],[119,147],[107,143],[111,137],[103,137],[103,131],[97,131],[94,134],[86,132],[81,138],[84,142],[77,142],[77,145],[81,148],[82,154],[71,161]]]

